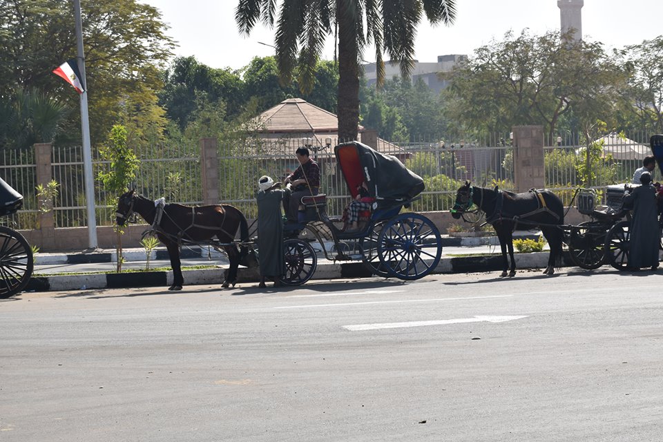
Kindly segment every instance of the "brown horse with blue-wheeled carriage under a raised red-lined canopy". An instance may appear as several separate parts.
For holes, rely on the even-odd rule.
[[[316,241],[327,259],[361,261],[378,276],[416,280],[432,272],[442,255],[439,230],[419,213],[401,213],[423,191],[421,177],[407,170],[396,157],[359,142],[340,144],[334,153],[352,197],[357,186],[366,182],[375,202],[365,214],[361,229],[349,232],[336,226],[340,219],[327,215],[326,195],[302,198],[304,219],[285,228],[286,274],[281,282],[300,285],[313,276],[318,257],[311,243]],[[133,213],[151,224],[148,231],[169,251],[173,269],[170,289],[182,289],[184,283],[180,263],[180,247],[184,244],[210,246],[227,254],[230,266],[223,287],[235,284],[240,262],[249,267],[256,265],[247,260],[253,256],[251,249],[260,259],[246,218],[233,206],[160,205],[129,191],[119,198],[117,223],[124,224]],[[238,231],[240,239],[235,240]]]

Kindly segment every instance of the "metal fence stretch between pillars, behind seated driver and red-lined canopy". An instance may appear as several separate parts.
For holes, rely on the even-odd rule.
[[[296,144],[296,142],[292,142]],[[279,142],[282,147],[283,141]],[[294,152],[298,146],[285,150]],[[266,151],[273,149],[265,148]],[[334,149],[311,151],[320,164],[320,192],[327,194],[327,212],[340,215],[349,203],[349,189],[336,164]],[[226,149],[227,151],[227,149]],[[412,205],[413,211],[443,211],[454,204],[456,191],[465,180],[480,184],[499,184],[513,189],[513,166],[510,146],[477,146],[464,142],[382,143],[378,151],[394,155],[407,169],[420,175],[425,182],[421,199]],[[225,155],[219,159],[220,195],[223,202],[237,206],[249,218],[257,215],[255,193],[258,178],[269,175],[282,180],[299,163],[295,155]]]

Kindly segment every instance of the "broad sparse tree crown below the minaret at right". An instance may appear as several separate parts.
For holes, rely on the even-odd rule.
[[[606,119],[624,84],[624,71],[602,44],[566,37],[508,32],[503,41],[475,50],[452,73],[450,119],[488,132],[544,124],[551,139],[567,114],[573,113],[581,126]]]

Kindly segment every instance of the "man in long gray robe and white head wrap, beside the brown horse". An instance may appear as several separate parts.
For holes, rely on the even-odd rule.
[[[285,275],[285,255],[283,251],[283,219],[281,201],[290,194],[290,186],[279,189],[281,183],[274,184],[271,177],[262,176],[258,180],[260,191],[258,201],[258,260],[260,261],[260,285],[264,288],[265,278],[280,287],[280,277]]]

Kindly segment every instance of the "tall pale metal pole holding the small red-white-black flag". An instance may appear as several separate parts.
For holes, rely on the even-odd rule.
[[[83,171],[85,177],[85,201],[88,214],[88,247],[97,248],[97,218],[95,215],[95,180],[92,172],[92,148],[90,147],[90,123],[88,122],[88,84],[85,79],[85,56],[83,52],[83,23],[81,20],[81,0],[74,0],[76,18],[76,58],[81,73],[83,93],[81,97],[81,133],[83,135]]]

